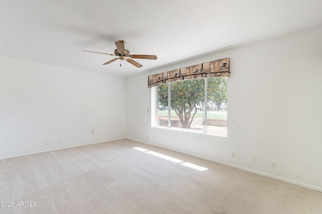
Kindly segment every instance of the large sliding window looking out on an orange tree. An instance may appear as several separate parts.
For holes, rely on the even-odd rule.
[[[165,83],[156,98],[157,126],[227,135],[227,77]]]

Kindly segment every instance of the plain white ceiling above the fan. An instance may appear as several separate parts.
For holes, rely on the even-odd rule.
[[[0,0],[0,56],[131,76],[321,24],[321,0]],[[119,40],[158,58],[120,67],[82,52],[113,54]]]

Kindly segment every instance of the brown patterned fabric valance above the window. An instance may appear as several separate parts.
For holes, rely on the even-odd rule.
[[[173,71],[148,76],[147,87],[158,86],[177,80],[188,80],[207,77],[229,77],[230,59],[224,58]]]

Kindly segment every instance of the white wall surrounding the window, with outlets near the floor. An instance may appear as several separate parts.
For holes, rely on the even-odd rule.
[[[321,41],[319,26],[128,77],[126,136],[322,191]],[[148,75],[225,57],[227,137],[150,127]]]

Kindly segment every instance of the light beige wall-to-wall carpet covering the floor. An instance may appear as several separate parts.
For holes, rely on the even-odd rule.
[[[128,139],[0,160],[0,202],[0,213],[322,213],[322,192]]]

